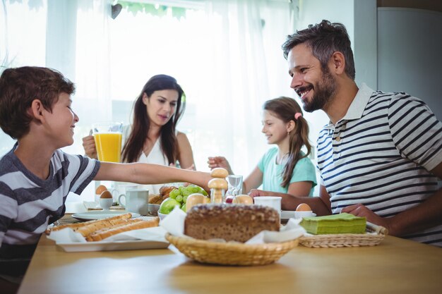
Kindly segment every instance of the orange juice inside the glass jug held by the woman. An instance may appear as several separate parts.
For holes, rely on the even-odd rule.
[[[121,133],[96,133],[94,139],[98,160],[120,162]]]

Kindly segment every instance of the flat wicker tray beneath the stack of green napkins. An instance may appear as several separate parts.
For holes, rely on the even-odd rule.
[[[357,247],[374,246],[381,243],[388,230],[374,223],[366,223],[364,234],[330,234],[330,235],[304,235],[299,240],[306,247]]]

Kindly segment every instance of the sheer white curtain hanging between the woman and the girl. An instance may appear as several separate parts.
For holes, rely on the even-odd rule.
[[[235,173],[246,176],[265,148],[261,104],[268,99],[262,1],[207,1],[206,95],[196,106],[196,154],[222,155]],[[210,97],[210,99],[208,99]],[[199,149],[199,150],[197,150]],[[205,158],[207,160],[207,158]],[[204,166],[205,167],[205,166]]]

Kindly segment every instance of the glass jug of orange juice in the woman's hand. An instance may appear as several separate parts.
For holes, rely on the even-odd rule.
[[[92,125],[98,160],[120,162],[123,123],[103,121]]]

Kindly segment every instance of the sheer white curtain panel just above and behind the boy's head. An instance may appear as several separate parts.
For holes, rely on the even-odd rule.
[[[53,61],[54,68],[63,68],[61,72],[76,84],[73,108],[80,121],[76,125],[75,143],[65,147],[66,152],[83,154],[81,138],[88,135],[90,125],[112,120],[110,13],[109,0],[48,0],[47,66],[52,67],[50,61]],[[66,30],[56,28],[63,23],[68,23]],[[54,31],[56,35],[49,39],[49,32]]]

